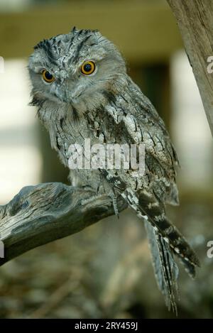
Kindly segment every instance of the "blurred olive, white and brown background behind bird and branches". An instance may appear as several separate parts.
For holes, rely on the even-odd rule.
[[[1,0],[0,204],[21,187],[67,182],[47,133],[28,107],[28,56],[72,26],[97,28],[126,58],[129,75],[168,126],[181,161],[180,207],[168,215],[197,251],[190,280],[180,267],[179,317],[213,317],[213,141],[175,18],[164,0]],[[2,60],[1,58],[1,60]],[[2,61],[1,61],[1,69]],[[0,318],[169,318],[143,223],[127,210],[0,268]]]

